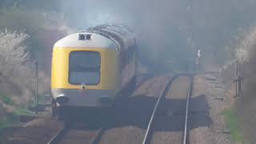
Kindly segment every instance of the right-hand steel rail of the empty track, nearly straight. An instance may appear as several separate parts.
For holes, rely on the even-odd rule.
[[[187,94],[186,98],[186,117],[185,117],[185,124],[184,124],[184,131],[183,131],[183,144],[188,144],[189,143],[189,110],[190,110],[190,99],[192,97],[192,92],[193,92],[193,84],[194,84],[194,78],[193,76],[190,76],[190,89]]]

